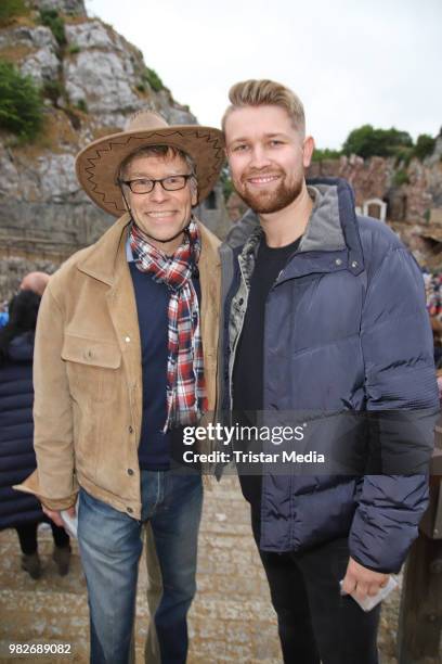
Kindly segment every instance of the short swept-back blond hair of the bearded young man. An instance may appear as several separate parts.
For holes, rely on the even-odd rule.
[[[225,120],[235,108],[244,106],[281,106],[284,108],[292,125],[302,137],[306,135],[306,115],[301,100],[292,90],[274,80],[244,80],[235,84],[229,90],[227,106],[222,120],[222,130],[225,130]]]

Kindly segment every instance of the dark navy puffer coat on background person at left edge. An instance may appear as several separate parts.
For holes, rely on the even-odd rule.
[[[12,488],[36,469],[32,353],[34,332],[25,332],[0,365],[0,531],[43,520],[39,501]]]

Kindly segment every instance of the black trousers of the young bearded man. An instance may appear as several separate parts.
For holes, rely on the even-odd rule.
[[[259,520],[252,516],[255,541]],[[380,605],[365,613],[341,597],[349,548],[346,538],[308,551],[259,551],[277,614],[285,664],[377,664]]]

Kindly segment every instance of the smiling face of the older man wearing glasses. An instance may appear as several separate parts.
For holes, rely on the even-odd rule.
[[[159,180],[173,175],[187,175],[190,167],[181,156],[139,156],[125,168],[125,180]],[[188,178],[183,189],[166,191],[157,182],[150,193],[138,194],[125,187],[133,220],[151,244],[172,254],[182,242],[182,230],[187,226],[197,192]]]

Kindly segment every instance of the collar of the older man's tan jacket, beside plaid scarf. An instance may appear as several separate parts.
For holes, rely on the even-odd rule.
[[[130,215],[126,213],[91,246],[87,256],[78,263],[78,269],[93,277],[93,279],[113,286],[118,273],[119,256],[123,255],[126,257],[129,224]],[[199,265],[200,269],[207,269],[208,271],[210,265],[213,268],[220,264],[218,240],[200,221],[197,221],[197,224],[202,234]]]

